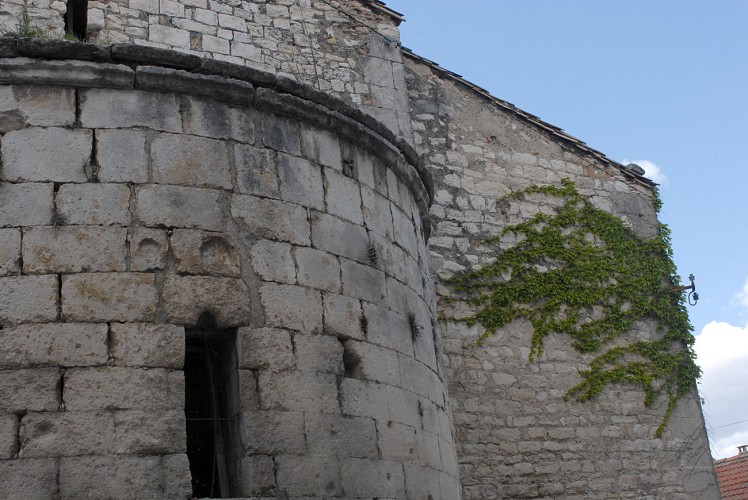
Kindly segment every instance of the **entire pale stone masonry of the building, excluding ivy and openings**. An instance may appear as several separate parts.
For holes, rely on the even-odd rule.
[[[61,34],[65,3],[0,27]],[[563,399],[567,339],[529,364],[529,324],[478,347],[443,319],[442,280],[547,209],[505,195],[570,178],[651,237],[653,186],[403,50],[401,20],[91,0],[96,44],[0,38],[0,498],[191,498],[208,330],[235,498],[719,498],[696,394],[656,438],[629,387]]]

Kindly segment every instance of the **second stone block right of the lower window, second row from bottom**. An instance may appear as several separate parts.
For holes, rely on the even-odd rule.
[[[304,422],[311,455],[341,458],[377,458],[379,455],[377,430],[370,418],[310,413]]]

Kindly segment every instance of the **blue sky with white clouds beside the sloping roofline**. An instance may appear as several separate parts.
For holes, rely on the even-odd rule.
[[[727,425],[748,420],[748,2],[387,5],[405,15],[401,39],[417,54],[664,175],[661,218],[701,296],[689,312],[712,451],[736,454],[748,444],[748,421]]]

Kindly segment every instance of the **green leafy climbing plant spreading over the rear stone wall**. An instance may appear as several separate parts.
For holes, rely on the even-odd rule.
[[[580,353],[596,356],[581,371],[582,381],[567,398],[587,401],[614,383],[639,386],[649,406],[660,396],[668,405],[661,435],[677,401],[695,386],[693,336],[672,261],[666,226],[643,240],[619,218],[596,208],[568,179],[561,186],[531,186],[508,201],[542,197],[550,210],[504,228],[483,241],[499,248],[496,259],[448,280],[489,335],[513,320],[533,326],[530,360],[543,352],[545,338],[567,334]],[[656,197],[659,209],[659,198]],[[660,338],[630,339],[638,320],[655,320]],[[626,340],[628,339],[628,340]]]

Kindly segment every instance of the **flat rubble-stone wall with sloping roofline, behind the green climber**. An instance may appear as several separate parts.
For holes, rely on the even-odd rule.
[[[482,239],[551,208],[542,197],[502,202],[509,193],[569,178],[639,236],[658,234],[647,181],[429,61],[411,55],[407,68],[416,147],[434,175],[429,248],[443,317],[466,311],[442,300],[452,292],[440,281],[489,262]],[[563,399],[593,357],[569,338],[547,338],[530,363],[529,322],[484,346],[479,326],[440,326],[465,499],[719,497],[695,393],[655,438],[666,401],[647,408],[626,386],[593,402]],[[632,335],[652,339],[656,327]]]

